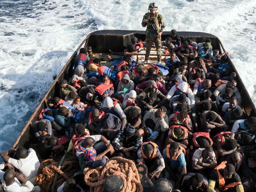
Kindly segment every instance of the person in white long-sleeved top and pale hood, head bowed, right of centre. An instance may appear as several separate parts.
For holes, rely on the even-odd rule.
[[[189,85],[186,82],[182,82],[179,85],[174,85],[169,92],[167,93],[166,97],[170,99],[174,95],[179,94],[186,94],[186,96],[189,98],[191,103],[191,108],[195,107],[195,96],[192,92],[192,90],[189,88]]]

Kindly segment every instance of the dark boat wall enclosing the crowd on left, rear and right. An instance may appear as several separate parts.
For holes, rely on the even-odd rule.
[[[210,38],[212,41],[212,46],[214,48],[218,48],[220,51],[224,51],[224,47],[221,44],[221,41],[209,33],[200,33],[200,32],[177,32],[178,35],[181,36],[182,40],[184,39],[192,39],[196,42],[204,42],[206,39]],[[169,36],[169,32],[164,32],[162,35],[162,39],[165,39]],[[16,148],[18,146],[25,146],[28,148],[32,142],[32,138],[30,135],[33,135],[32,130],[32,123],[37,120],[37,117],[41,110],[46,106],[46,101],[52,97],[55,96],[55,93],[58,93],[59,85],[58,81],[59,79],[68,79],[73,72],[72,64],[74,63],[75,55],[77,54],[78,50],[85,44],[85,47],[87,45],[92,46],[93,52],[96,53],[102,53],[102,52],[108,52],[109,49],[117,52],[122,52],[124,50],[124,46],[127,46],[128,44],[131,44],[131,38],[137,37],[138,39],[142,39],[145,41],[145,31],[126,31],[126,30],[102,30],[102,31],[95,31],[87,36],[85,40],[78,46],[72,57],[67,61],[63,69],[61,70],[58,77],[55,79],[55,81],[52,83],[51,87],[46,92],[45,96],[39,103],[38,107],[35,109],[34,113],[32,114],[31,118],[28,120],[27,124],[25,125],[24,129],[18,136],[17,140],[13,144],[12,148]],[[237,73],[237,87],[239,91],[241,92],[241,96],[243,99],[243,107],[245,109],[250,109],[251,111],[250,116],[256,115],[256,109],[254,106],[254,103],[252,102],[251,98],[249,97],[248,91],[245,89],[243,82],[241,81],[241,78],[239,76],[239,73],[237,72],[236,68],[234,67],[232,61],[230,60],[230,64],[234,71]]]

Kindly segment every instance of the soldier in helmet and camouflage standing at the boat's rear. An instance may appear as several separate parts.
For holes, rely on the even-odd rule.
[[[147,26],[146,30],[146,55],[145,55],[145,61],[144,63],[148,63],[148,57],[150,54],[150,49],[152,47],[152,43],[155,43],[156,46],[156,53],[157,53],[157,59],[158,63],[161,63],[161,35],[163,33],[163,29],[165,28],[165,23],[163,21],[162,15],[159,13],[156,13],[156,10],[158,9],[158,6],[156,3],[150,3],[148,6],[148,10],[150,12],[146,13],[143,16],[143,20],[141,25],[143,27]],[[156,27],[154,29],[154,27]]]

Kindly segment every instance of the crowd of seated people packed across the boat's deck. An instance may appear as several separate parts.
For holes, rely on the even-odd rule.
[[[173,190],[255,191],[256,117],[243,110],[228,53],[219,54],[211,39],[182,42],[172,30],[162,41],[170,54],[165,65],[146,65],[132,57],[142,41],[131,42],[118,53],[122,59],[109,56],[110,68],[80,49],[74,74],[59,80],[56,97],[33,123],[39,159],[67,150],[83,170],[120,156],[145,164],[150,180],[166,178]],[[1,157],[4,191],[40,191],[35,150]],[[83,189],[68,179],[57,191]]]

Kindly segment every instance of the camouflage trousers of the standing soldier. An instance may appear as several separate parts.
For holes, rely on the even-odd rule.
[[[149,32],[149,31],[146,32],[146,49],[147,50],[146,50],[145,60],[148,60],[153,42],[155,43],[155,46],[156,46],[157,60],[161,61],[161,47],[162,47],[161,39],[157,37],[156,33]]]

